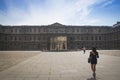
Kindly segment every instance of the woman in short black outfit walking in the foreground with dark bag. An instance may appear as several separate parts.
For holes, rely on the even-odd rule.
[[[95,47],[92,48],[89,58],[90,58],[90,63],[91,63],[91,70],[93,72],[93,77],[96,77],[95,71],[96,71],[97,58],[99,58],[99,54]]]

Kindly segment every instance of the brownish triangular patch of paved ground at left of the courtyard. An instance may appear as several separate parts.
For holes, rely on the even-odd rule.
[[[37,54],[38,51],[0,51],[0,72]]]

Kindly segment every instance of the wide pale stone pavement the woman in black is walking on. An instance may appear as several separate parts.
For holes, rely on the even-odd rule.
[[[120,57],[100,55],[94,79],[89,51],[39,53],[0,72],[0,80],[120,80]]]

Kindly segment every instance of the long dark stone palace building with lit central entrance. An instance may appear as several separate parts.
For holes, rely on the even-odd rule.
[[[0,50],[120,49],[120,22],[113,26],[0,25]]]

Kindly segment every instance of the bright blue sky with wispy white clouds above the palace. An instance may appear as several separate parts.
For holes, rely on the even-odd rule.
[[[113,25],[120,0],[0,0],[0,24]]]

